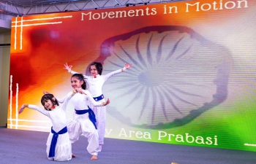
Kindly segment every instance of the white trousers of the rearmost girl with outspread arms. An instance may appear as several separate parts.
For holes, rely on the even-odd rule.
[[[105,102],[105,99],[98,102]],[[99,133],[99,144],[104,144],[105,128],[106,128],[106,106],[93,106],[89,101],[89,106],[95,114],[96,125]]]

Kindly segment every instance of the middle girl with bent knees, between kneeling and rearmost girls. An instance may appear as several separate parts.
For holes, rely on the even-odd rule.
[[[78,141],[79,136],[83,135],[88,138],[88,152],[92,155],[91,160],[97,160],[99,151],[99,136],[95,125],[96,119],[94,112],[89,108],[88,102],[93,106],[106,106],[110,103],[109,99],[104,102],[94,101],[89,90],[86,90],[86,82],[83,80],[83,74],[73,74],[71,77],[72,87],[82,88],[85,94],[76,94],[71,98],[72,104],[75,107],[75,113],[72,120],[67,122],[69,138],[72,143]],[[58,99],[62,103],[66,98]],[[75,157],[75,155],[73,155]]]

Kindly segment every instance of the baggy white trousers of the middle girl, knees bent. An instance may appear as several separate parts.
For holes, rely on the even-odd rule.
[[[78,141],[83,134],[88,139],[87,150],[91,155],[98,155],[99,135],[94,124],[89,119],[89,114],[73,114],[72,120],[67,122],[67,130],[71,143]]]

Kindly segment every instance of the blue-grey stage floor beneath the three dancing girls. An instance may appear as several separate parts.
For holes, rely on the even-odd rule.
[[[49,133],[0,128],[0,163],[61,163],[48,160],[45,149]],[[144,141],[105,138],[97,161],[91,161],[87,140],[81,136],[72,144],[77,156],[62,163],[104,164],[255,164],[256,152],[207,147],[189,147]]]

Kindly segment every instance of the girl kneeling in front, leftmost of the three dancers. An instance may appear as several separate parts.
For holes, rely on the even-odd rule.
[[[53,126],[46,142],[48,160],[67,161],[72,159],[72,146],[69,141],[69,133],[67,133],[66,108],[69,99],[77,92],[83,93],[78,88],[73,90],[67,95],[61,106],[52,94],[45,94],[41,98],[41,104],[45,109],[31,104],[23,104],[20,107],[19,114],[28,107],[50,118]]]

